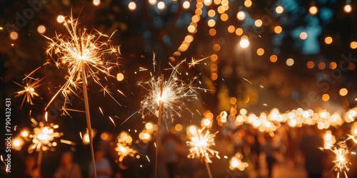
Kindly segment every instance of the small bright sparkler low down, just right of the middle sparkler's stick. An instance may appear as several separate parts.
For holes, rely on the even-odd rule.
[[[211,169],[208,166],[208,163],[212,162],[210,157],[216,155],[216,157],[220,158],[218,152],[210,148],[211,146],[216,145],[214,137],[216,137],[217,133],[218,131],[211,134],[209,130],[206,130],[206,127],[202,127],[201,129],[197,129],[195,126],[188,127],[187,135],[189,141],[187,141],[186,144],[191,148],[189,150],[190,154],[188,154],[187,157],[201,157],[206,164],[208,177],[212,177]]]

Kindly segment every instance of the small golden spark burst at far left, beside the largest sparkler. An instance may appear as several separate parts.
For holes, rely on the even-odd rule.
[[[41,67],[39,67],[39,68],[41,68]],[[35,89],[38,88],[39,86],[43,85],[43,83],[41,83],[41,81],[44,78],[38,79],[38,78],[32,77],[32,75],[36,72],[36,70],[39,70],[39,68],[36,68],[34,71],[29,73],[28,75],[25,75],[25,78],[22,80],[24,85],[14,82],[16,85],[19,85],[21,88],[24,88],[24,90],[20,90],[20,91],[16,92],[17,95],[15,95],[15,97],[24,95],[24,99],[22,100],[20,109],[24,105],[25,100],[27,103],[30,103],[30,105],[34,105],[34,103],[32,102],[32,99],[34,99],[35,96],[40,97],[39,93],[36,93]]]

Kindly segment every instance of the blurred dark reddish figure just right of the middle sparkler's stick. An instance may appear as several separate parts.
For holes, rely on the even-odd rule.
[[[181,150],[181,140],[172,133],[168,133],[162,138],[162,145],[164,147],[166,167],[169,172],[169,177],[174,178],[176,174],[176,165]]]

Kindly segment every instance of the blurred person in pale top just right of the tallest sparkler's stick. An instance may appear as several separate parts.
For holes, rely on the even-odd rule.
[[[111,164],[106,159],[105,152],[98,149],[94,152],[94,159],[96,159],[96,175],[98,178],[109,178],[113,174]],[[94,177],[93,161],[89,163],[89,177]]]

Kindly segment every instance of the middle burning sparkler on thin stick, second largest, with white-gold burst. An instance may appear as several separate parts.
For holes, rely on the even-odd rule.
[[[153,65],[156,65],[155,58],[153,59]],[[179,66],[186,61],[183,60],[176,66],[171,66],[172,72],[168,80],[164,80],[164,75],[161,74],[159,78],[152,77],[147,82],[139,82],[138,85],[149,92],[145,96],[144,100],[141,100],[141,117],[146,115],[156,115],[158,117],[158,134],[156,136],[156,168],[157,170],[157,158],[159,155],[160,147],[160,130],[161,130],[161,118],[164,120],[174,120],[175,116],[181,117],[181,111],[184,107],[183,98],[197,98],[196,89],[192,83],[196,80],[196,77],[191,80],[189,84],[183,82],[178,78],[181,73],[178,72]],[[198,63],[198,62],[197,62]],[[170,64],[171,65],[171,64]],[[129,119],[129,118],[128,118]]]

